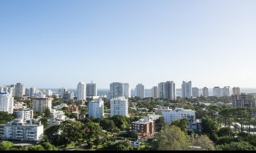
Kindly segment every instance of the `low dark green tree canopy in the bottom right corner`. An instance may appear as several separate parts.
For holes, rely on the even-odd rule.
[[[231,142],[224,145],[216,145],[216,150],[256,150],[256,147],[248,142]]]

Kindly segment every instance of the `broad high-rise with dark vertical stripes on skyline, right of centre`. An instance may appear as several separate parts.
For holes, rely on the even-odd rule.
[[[175,83],[171,81],[161,82],[158,84],[158,97],[163,99],[176,99]]]

